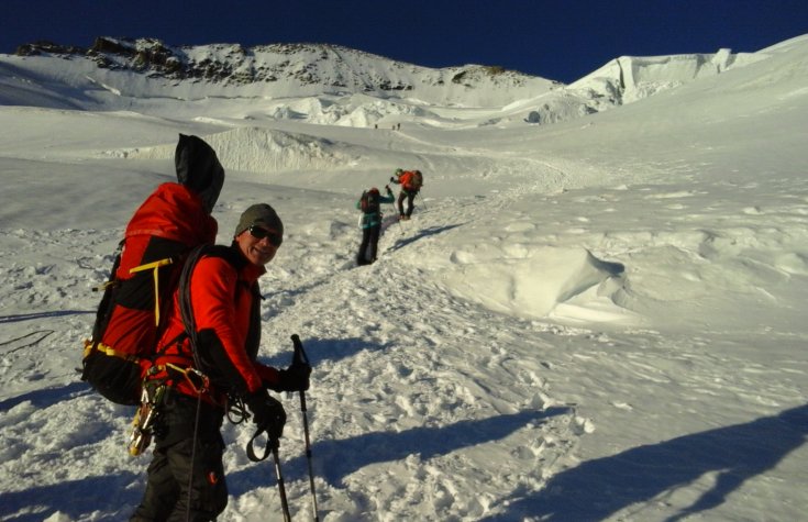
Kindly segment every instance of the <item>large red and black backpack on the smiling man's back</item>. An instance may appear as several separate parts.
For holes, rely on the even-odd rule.
[[[180,134],[177,182],[157,187],[126,225],[85,343],[81,379],[119,404],[141,402],[143,373],[165,325],[167,303],[188,253],[213,244],[219,225],[211,212],[224,184],[215,152],[197,136]]]

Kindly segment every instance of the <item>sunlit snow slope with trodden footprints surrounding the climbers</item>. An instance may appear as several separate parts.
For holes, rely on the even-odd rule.
[[[278,120],[311,99],[226,89],[70,110],[44,101],[60,80],[21,87],[0,58],[1,520],[125,520],[143,493],[133,411],[75,368],[91,288],[173,179],[177,133],[228,171],[220,242],[254,202],[287,225],[261,357],[286,366],[297,333],[314,365],[321,520],[808,520],[808,37],[583,119],[424,104],[400,131]],[[416,214],[354,268],[355,199],[399,166],[425,175]],[[220,519],[278,514],[251,431],[224,435]]]

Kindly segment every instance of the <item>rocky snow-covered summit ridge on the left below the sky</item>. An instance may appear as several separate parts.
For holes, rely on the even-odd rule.
[[[432,69],[331,44],[175,47],[155,38],[99,37],[88,49],[40,43],[20,46],[18,55],[67,58],[121,96],[136,96],[136,89],[146,88],[150,96],[185,98],[184,85],[190,84],[197,86],[199,96],[279,98],[362,92],[378,98],[413,96],[438,104],[492,107],[555,85],[501,67]],[[133,74],[147,78],[147,85],[131,82]]]

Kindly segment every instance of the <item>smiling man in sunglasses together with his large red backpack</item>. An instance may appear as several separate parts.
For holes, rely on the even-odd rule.
[[[155,440],[143,501],[133,521],[213,520],[228,502],[226,413],[252,413],[277,458],[286,413],[273,391],[309,387],[307,362],[276,369],[257,362],[258,277],[283,241],[268,204],[248,208],[230,247],[213,245],[211,215],[224,182],[215,153],[197,136],[179,136],[178,182],[165,182],[130,220],[119,245],[92,337],[85,342],[82,380],[119,404],[137,404],[129,444],[141,455]],[[247,411],[248,410],[248,411]],[[265,458],[266,453],[264,455]],[[261,458],[257,458],[261,459]],[[285,517],[288,520],[288,517]]]

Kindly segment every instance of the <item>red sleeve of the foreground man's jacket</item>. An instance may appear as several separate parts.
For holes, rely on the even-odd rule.
[[[225,259],[203,257],[193,269],[191,277],[191,304],[197,332],[212,331],[218,346],[222,349],[232,368],[218,368],[235,389],[247,392],[259,390],[263,385],[255,364],[246,353],[244,343],[250,324],[250,292],[236,293],[239,275]],[[240,298],[240,301],[236,300]],[[206,335],[210,338],[209,335]],[[220,360],[215,357],[214,360]]]

